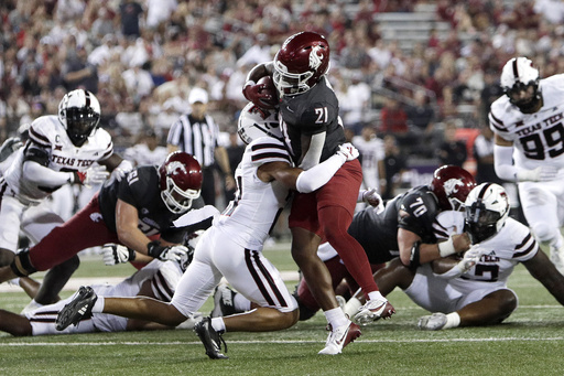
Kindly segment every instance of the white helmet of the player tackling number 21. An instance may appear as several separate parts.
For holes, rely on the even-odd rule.
[[[238,130],[241,140],[249,144],[260,137],[283,140],[278,111],[264,110],[249,103],[239,115]]]

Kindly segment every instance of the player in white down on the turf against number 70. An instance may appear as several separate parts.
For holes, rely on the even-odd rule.
[[[400,287],[417,305],[435,312],[419,320],[422,330],[498,324],[518,307],[507,280],[519,262],[564,304],[564,276],[540,249],[530,229],[509,217],[509,198],[498,184],[476,186],[465,213],[444,212],[442,230],[469,234],[473,246],[464,257],[447,257],[416,270],[398,260],[376,273],[382,293]]]

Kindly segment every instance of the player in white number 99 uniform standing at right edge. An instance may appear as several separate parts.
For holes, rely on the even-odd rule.
[[[539,241],[564,273],[564,75],[540,78],[527,57],[501,71],[506,95],[491,104],[494,166],[500,179],[517,182],[523,214]]]

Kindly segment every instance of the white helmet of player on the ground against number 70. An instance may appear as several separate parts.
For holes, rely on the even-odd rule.
[[[465,224],[473,244],[489,239],[506,224],[509,197],[501,185],[481,183],[470,191],[466,202]]]

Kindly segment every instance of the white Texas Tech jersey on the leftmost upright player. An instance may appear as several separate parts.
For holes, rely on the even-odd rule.
[[[15,152],[14,160],[4,178],[15,196],[23,201],[36,202],[46,197],[53,189],[42,189],[23,178],[24,153],[28,148],[37,148],[48,154],[48,169],[54,171],[85,171],[94,162],[102,161],[113,153],[111,136],[98,128],[93,136],[77,148],[68,138],[56,116],[42,116],[30,127],[30,140]]]

